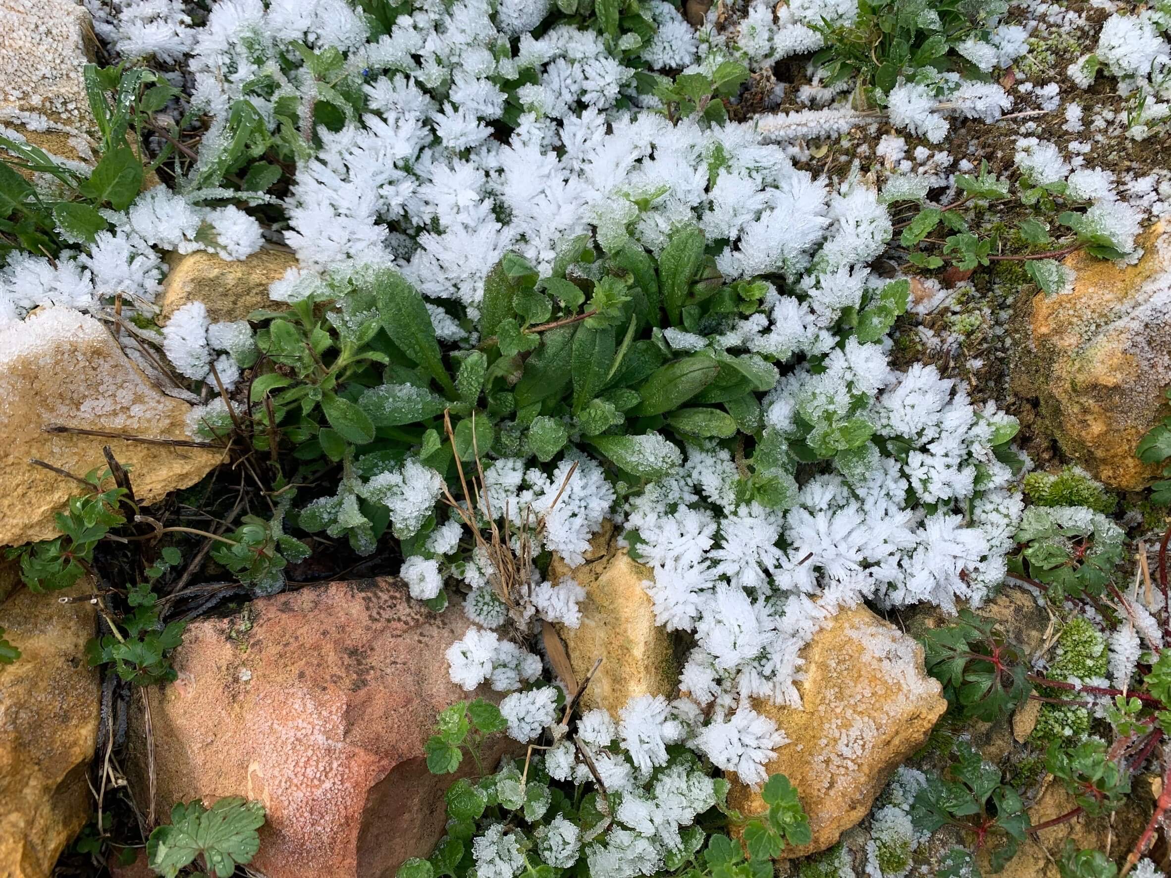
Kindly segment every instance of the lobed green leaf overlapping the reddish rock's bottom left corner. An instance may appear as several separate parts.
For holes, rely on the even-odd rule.
[[[171,809],[170,825],[150,834],[146,858],[164,878],[176,878],[197,857],[208,874],[228,878],[260,850],[256,830],[263,823],[265,807],[238,796],[221,798],[210,809],[199,801],[179,803]]]

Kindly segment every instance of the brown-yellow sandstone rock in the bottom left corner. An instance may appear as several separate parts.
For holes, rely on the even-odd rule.
[[[0,878],[48,878],[89,819],[101,699],[85,665],[94,616],[89,603],[23,588],[0,603],[0,627],[21,651],[0,665]]]

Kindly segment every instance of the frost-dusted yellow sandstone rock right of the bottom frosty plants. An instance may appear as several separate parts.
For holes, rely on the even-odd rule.
[[[923,670],[923,647],[864,606],[840,611],[802,650],[802,707],[756,700],[789,743],[768,763],[796,787],[813,841],[782,858],[816,853],[861,821],[890,773],[931,734],[947,702]],[[728,803],[760,814],[756,790],[733,782]]]

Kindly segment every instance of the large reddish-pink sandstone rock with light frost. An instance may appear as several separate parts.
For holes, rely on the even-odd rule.
[[[427,856],[454,776],[430,774],[423,746],[440,709],[474,697],[450,681],[444,659],[467,627],[389,578],[304,588],[260,598],[247,615],[193,622],[174,654],[178,680],[152,694],[156,812],[198,797],[260,800],[268,818],[251,865],[267,878],[383,878]],[[130,735],[144,802],[141,716]]]

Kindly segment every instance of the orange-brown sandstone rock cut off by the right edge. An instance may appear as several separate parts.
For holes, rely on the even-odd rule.
[[[1159,224],[1138,245],[1145,253],[1127,268],[1067,258],[1073,289],[1033,299],[1013,371],[1014,389],[1038,397],[1062,451],[1123,491],[1158,475],[1135,448],[1167,413],[1171,383],[1171,232]]]

